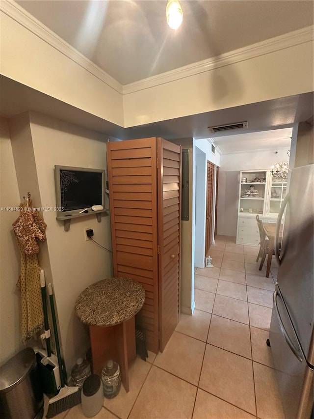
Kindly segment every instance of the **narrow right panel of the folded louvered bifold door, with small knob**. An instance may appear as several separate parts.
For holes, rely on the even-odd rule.
[[[181,147],[158,138],[157,156],[159,348],[162,352],[180,319]]]

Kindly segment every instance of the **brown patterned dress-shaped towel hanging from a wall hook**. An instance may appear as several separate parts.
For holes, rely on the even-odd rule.
[[[22,341],[43,327],[43,304],[40,288],[40,266],[37,239],[45,240],[47,224],[36,211],[24,210],[13,223],[21,251],[21,274],[17,286],[21,292]]]

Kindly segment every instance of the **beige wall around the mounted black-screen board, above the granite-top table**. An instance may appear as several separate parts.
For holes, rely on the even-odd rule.
[[[22,195],[31,193],[36,207],[56,206],[54,165],[106,168],[107,139],[102,134],[36,112],[9,122],[20,190]],[[73,219],[70,231],[65,232],[54,212],[43,211],[42,216],[48,225],[47,240],[38,259],[46,281],[53,284],[60,340],[70,372],[89,347],[88,329],[75,315],[75,301],[88,285],[112,274],[111,253],[86,242],[84,227],[92,228],[94,239],[110,249],[110,219],[104,215],[101,223],[95,215]],[[10,231],[11,226],[6,228]]]

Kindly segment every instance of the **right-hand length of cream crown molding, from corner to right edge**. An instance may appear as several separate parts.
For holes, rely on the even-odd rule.
[[[175,80],[205,73],[226,65],[235,64],[237,62],[270,54],[299,44],[311,42],[314,39],[313,31],[314,26],[294,30],[284,35],[266,39],[265,41],[252,44],[220,56],[185,65],[184,67],[167,71],[165,73],[158,74],[157,76],[148,77],[147,79],[143,79],[138,82],[125,84],[123,86],[123,94],[130,94],[150,87],[155,87],[160,84],[174,82]]]

